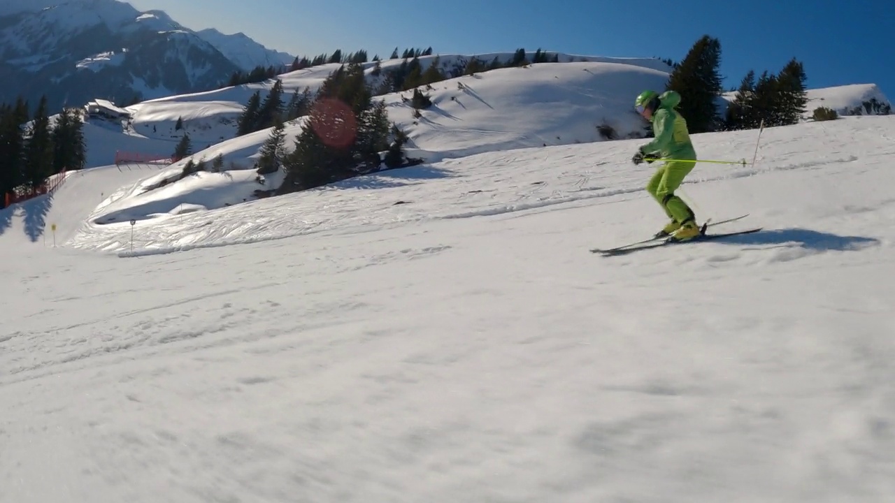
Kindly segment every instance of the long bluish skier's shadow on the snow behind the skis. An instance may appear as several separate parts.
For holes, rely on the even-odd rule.
[[[717,240],[716,243],[753,244],[792,247],[798,246],[806,250],[848,252],[862,250],[880,243],[873,237],[858,235],[839,235],[813,231],[811,229],[775,229],[762,230],[752,234],[732,235]]]

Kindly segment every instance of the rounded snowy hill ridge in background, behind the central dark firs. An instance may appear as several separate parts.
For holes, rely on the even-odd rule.
[[[392,65],[396,63],[383,64],[383,68]],[[315,92],[337,66],[281,75],[286,99],[296,90]],[[642,135],[645,123],[632,111],[632,89],[658,87],[667,78],[666,72],[618,63],[533,64],[493,70],[433,84],[426,93],[435,105],[422,112],[421,120],[413,117],[413,109],[405,103],[412,94],[409,91],[377,99],[386,101],[389,118],[410,134],[413,148],[430,155],[460,155],[597,141],[599,124],[613,126],[621,137]],[[251,94],[261,90],[263,98],[272,85],[268,81],[159,98],[128,110],[134,129],[147,136],[152,136],[153,127],[157,132],[159,127],[173,132],[177,119],[183,118],[191,138],[230,139]]]

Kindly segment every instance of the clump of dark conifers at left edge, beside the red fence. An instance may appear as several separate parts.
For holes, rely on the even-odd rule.
[[[86,165],[82,114],[64,108],[51,119],[46,96],[33,114],[22,98],[0,104],[0,201],[6,192],[37,189],[52,175]]]

